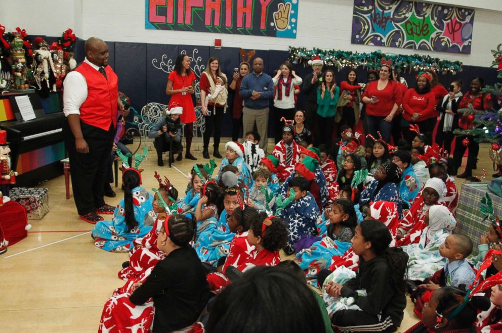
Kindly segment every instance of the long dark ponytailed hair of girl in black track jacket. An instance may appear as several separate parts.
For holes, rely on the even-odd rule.
[[[370,250],[377,256],[384,257],[389,264],[392,283],[399,293],[405,292],[408,255],[401,248],[389,248],[391,232],[384,223],[376,220],[364,220],[359,225],[366,242],[371,242]]]

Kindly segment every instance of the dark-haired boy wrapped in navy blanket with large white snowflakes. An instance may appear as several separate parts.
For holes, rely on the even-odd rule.
[[[284,183],[281,187],[282,201],[288,198],[290,189],[293,189],[295,193],[294,200],[279,215],[288,226],[289,242],[284,248],[287,255],[303,249],[300,245],[295,247],[302,238],[317,234],[315,223],[319,216],[319,209],[314,197],[308,192],[309,188],[309,181],[303,177],[293,177],[289,184]]]

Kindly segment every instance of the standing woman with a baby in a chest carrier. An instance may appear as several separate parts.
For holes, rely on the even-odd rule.
[[[227,76],[221,72],[220,59],[211,57],[207,61],[205,71],[200,75],[200,103],[205,120],[203,134],[202,157],[209,158],[209,139],[214,130],[213,156],[222,158],[220,155],[220,137],[223,124],[223,114],[227,106]],[[206,99],[208,101],[206,101]]]

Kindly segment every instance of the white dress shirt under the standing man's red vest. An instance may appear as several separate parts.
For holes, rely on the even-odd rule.
[[[83,60],[89,66],[99,71],[99,66],[94,65],[89,60]],[[65,117],[71,114],[80,114],[80,106],[87,99],[87,81],[83,75],[77,71],[71,71],[63,81],[63,112]]]

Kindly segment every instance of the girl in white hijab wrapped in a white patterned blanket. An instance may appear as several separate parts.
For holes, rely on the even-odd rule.
[[[434,205],[425,214],[427,225],[418,243],[403,246],[408,254],[408,278],[424,279],[444,267],[445,258],[439,255],[439,247],[444,243],[456,225],[456,220],[448,208]]]

